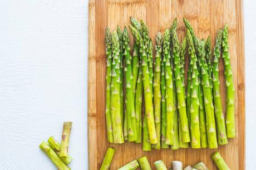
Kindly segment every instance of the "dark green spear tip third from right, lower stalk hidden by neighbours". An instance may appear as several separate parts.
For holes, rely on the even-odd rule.
[[[213,88],[213,78],[212,78],[212,74],[213,74],[213,65],[211,64],[211,38],[210,36],[207,37],[205,45],[205,59],[207,62],[207,66],[208,66],[208,75],[209,75],[209,83],[211,88]]]

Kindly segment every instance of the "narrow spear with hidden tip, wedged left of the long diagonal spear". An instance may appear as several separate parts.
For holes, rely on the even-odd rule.
[[[142,118],[141,118],[141,109],[142,109],[142,93],[143,93],[143,84],[142,84],[142,67],[139,68],[139,76],[137,78],[136,92],[135,92],[135,115],[136,115],[136,131],[137,139],[135,143],[141,143],[141,128],[142,128]],[[148,132],[147,132],[148,133]]]

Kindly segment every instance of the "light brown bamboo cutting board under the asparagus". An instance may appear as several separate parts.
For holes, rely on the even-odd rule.
[[[109,144],[105,121],[105,27],[111,31],[117,24],[124,28],[130,23],[130,16],[143,19],[149,27],[150,37],[155,43],[158,31],[169,28],[174,18],[178,18],[178,34],[185,35],[183,17],[192,24],[195,34],[200,38],[211,36],[214,44],[216,32],[228,23],[229,53],[231,57],[235,86],[235,121],[237,137],[228,140],[228,145],[218,149],[161,149],[143,152],[141,144]],[[131,44],[133,42],[131,33]],[[186,62],[188,65],[188,62]],[[223,110],[225,111],[225,82],[223,61],[220,61],[220,81]],[[117,169],[124,164],[147,156],[152,168],[153,163],[162,159],[170,168],[171,161],[179,160],[186,165],[204,161],[209,169],[216,169],[210,155],[219,151],[229,167],[242,170],[245,168],[245,85],[244,85],[244,35],[242,0],[90,0],[89,2],[89,52],[88,52],[88,151],[89,169],[100,169],[107,147],[114,147],[116,153],[110,169]]]

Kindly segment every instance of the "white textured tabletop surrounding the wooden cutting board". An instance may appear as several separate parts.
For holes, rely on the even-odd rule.
[[[86,0],[0,1],[0,169],[56,169],[38,148],[72,121],[72,169],[87,168]],[[246,169],[256,166],[256,4],[244,2]]]

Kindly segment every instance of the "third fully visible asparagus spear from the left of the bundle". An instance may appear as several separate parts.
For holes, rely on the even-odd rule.
[[[134,93],[132,89],[132,66],[131,66],[131,55],[130,55],[130,45],[128,31],[125,27],[124,35],[122,37],[124,46],[124,56],[125,56],[125,93],[126,93],[126,114],[127,114],[127,127],[128,127],[128,141],[136,141],[137,131],[136,131],[136,116],[135,116],[135,106],[134,106]]]

